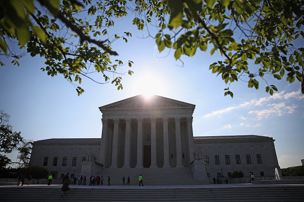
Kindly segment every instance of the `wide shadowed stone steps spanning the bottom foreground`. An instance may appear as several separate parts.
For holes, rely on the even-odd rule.
[[[0,187],[0,201],[303,201],[304,186],[207,188]]]

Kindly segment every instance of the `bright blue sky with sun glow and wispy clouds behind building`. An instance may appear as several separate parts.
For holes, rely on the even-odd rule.
[[[138,32],[126,21],[116,21],[117,32],[132,32],[128,43],[116,41],[115,59],[131,60],[134,75],[122,79],[123,90],[114,85],[99,85],[83,78],[85,93],[78,96],[74,87],[61,75],[50,77],[40,70],[44,61],[27,56],[20,66],[12,59],[0,67],[0,109],[11,115],[14,131],[25,139],[48,138],[100,138],[101,112],[98,107],[143,93],[181,100],[196,105],[193,114],[194,136],[260,135],[275,139],[277,158],[281,168],[300,165],[304,159],[304,95],[300,83],[289,84],[284,78],[277,81],[278,92],[273,96],[265,92],[266,84],[260,81],[260,90],[249,89],[247,83],[230,86],[234,98],[224,96],[227,86],[220,77],[209,71],[209,65],[220,60],[219,54],[198,51],[192,58],[182,57],[184,66],[172,53],[159,54],[155,41],[142,39],[146,32]],[[251,68],[255,66],[251,65]],[[126,71],[127,65],[121,67]],[[94,78],[102,81],[102,75]],[[9,155],[14,161],[16,153]]]

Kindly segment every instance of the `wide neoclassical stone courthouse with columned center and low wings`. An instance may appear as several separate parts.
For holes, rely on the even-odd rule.
[[[137,95],[99,107],[101,138],[54,138],[33,143],[30,164],[49,171],[111,176],[134,184],[209,184],[241,170],[245,176],[274,176],[280,170],[274,140],[257,135],[193,136],[196,106],[154,95]],[[105,178],[106,179],[106,178]],[[131,182],[131,184],[132,184]]]

